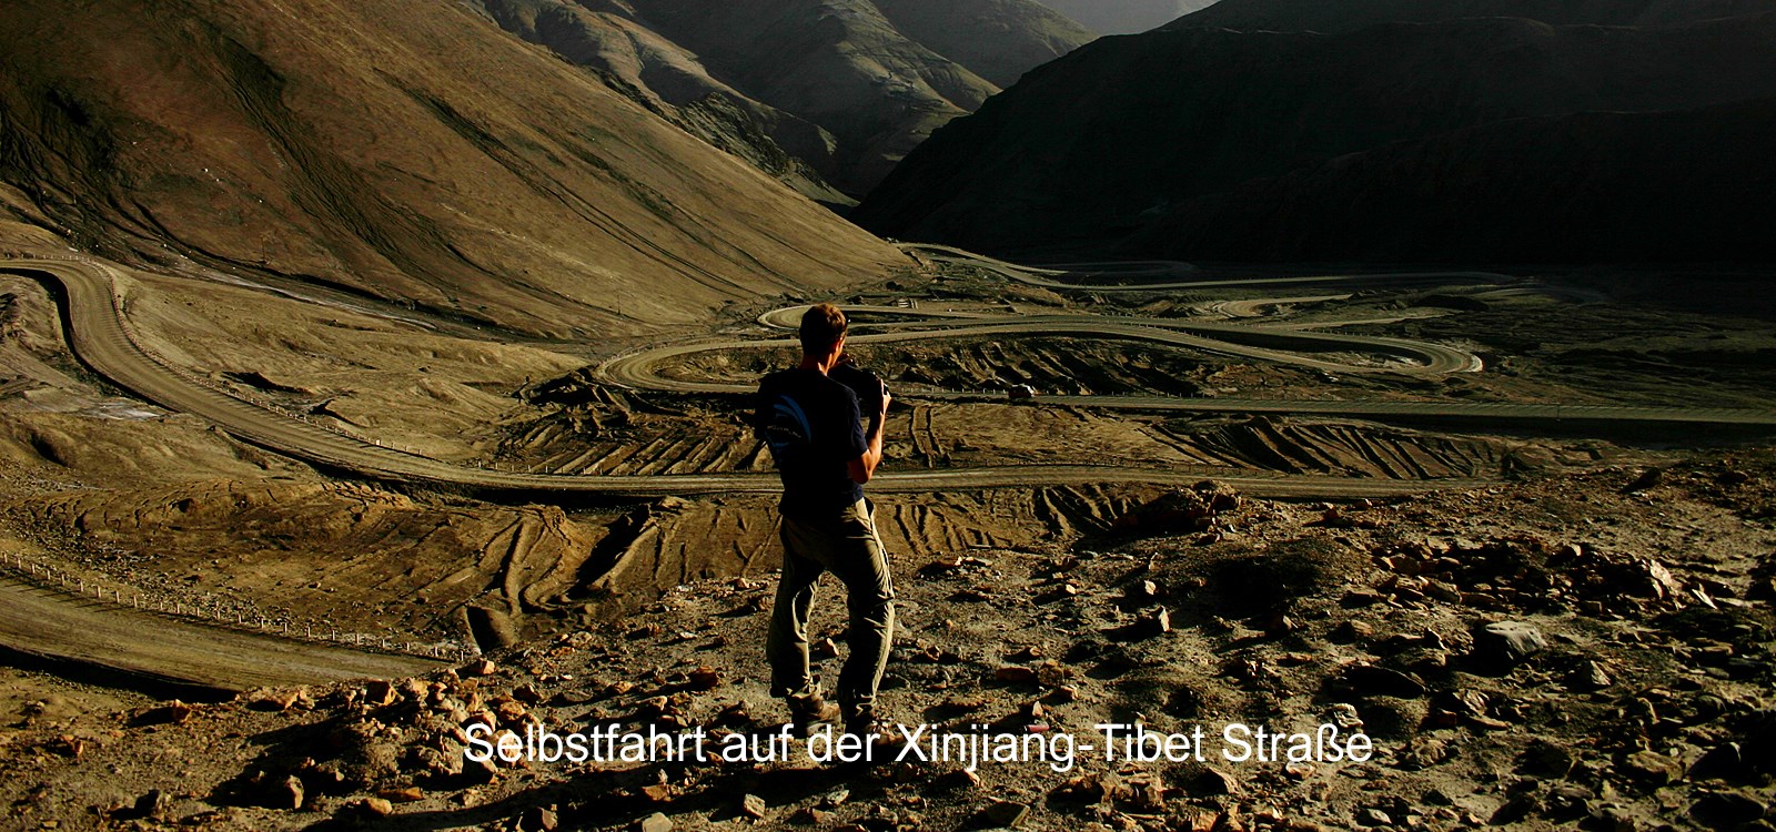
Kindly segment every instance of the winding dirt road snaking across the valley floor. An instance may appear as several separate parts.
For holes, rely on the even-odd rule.
[[[961,257],[961,255],[957,255]],[[1030,273],[1018,266],[995,266],[1011,275]],[[490,493],[565,495],[600,493],[627,497],[698,495],[780,488],[773,474],[694,474],[694,475],[559,475],[520,474],[432,459],[329,429],[305,417],[275,412],[213,387],[210,381],[155,357],[135,339],[123,314],[119,268],[78,254],[30,254],[0,257],[0,271],[46,277],[57,300],[75,355],[92,371],[117,385],[170,410],[197,415],[215,426],[263,447],[334,470],[396,483],[456,486]],[[1046,280],[1046,277],[1041,277]],[[1314,279],[1318,280],[1318,279]],[[1327,279],[1330,280],[1330,277]],[[1028,280],[1027,280],[1028,282]],[[1305,282],[1302,279],[1245,280]],[[1231,282],[1188,282],[1176,286],[1229,286]],[[1078,286],[1057,284],[1076,289]],[[1156,289],[1146,284],[1142,289]],[[879,314],[908,310],[872,309]],[[783,326],[796,309],[776,310],[765,323]],[[1217,325],[1195,321],[1135,321],[1096,316],[1032,316],[1005,319],[977,314],[922,314],[920,321],[890,323],[886,332],[858,335],[858,341],[908,341],[970,335],[1069,335],[1147,341],[1215,349],[1247,358],[1277,360],[1341,373],[1440,374],[1479,369],[1472,355],[1401,339],[1336,335],[1284,328]],[[789,339],[705,341],[668,344],[606,362],[604,378],[639,389],[680,392],[748,392],[749,381],[684,381],[662,378],[657,367],[698,351],[757,349],[789,346]],[[1375,364],[1350,364],[1312,353],[1368,353]],[[968,399],[971,394],[929,390],[931,399]],[[977,396],[973,396],[977,397]],[[1634,406],[1561,406],[1494,403],[1410,403],[1410,401],[1266,401],[1266,399],[1176,399],[1160,396],[1050,396],[1044,401],[1094,408],[1241,412],[1241,413],[1327,413],[1362,417],[1462,417],[1485,420],[1598,420],[1632,424],[1755,424],[1776,426],[1776,413],[1719,408],[1634,408]],[[1053,486],[1089,483],[1188,484],[1201,481],[1201,470],[1126,468],[1098,465],[1018,465],[1002,468],[950,468],[884,472],[870,488],[884,493],[979,490],[1003,486]],[[1478,481],[1391,481],[1282,474],[1220,475],[1234,488],[1254,495],[1305,498],[1389,497],[1433,488],[1474,486]],[[403,676],[435,667],[405,656],[378,656],[323,644],[289,642],[250,633],[233,633],[179,621],[146,621],[146,614],[80,603],[25,584],[0,580],[0,640],[30,653],[55,655],[82,662],[121,667],[222,688],[247,688],[293,681],[321,681],[353,676]]]

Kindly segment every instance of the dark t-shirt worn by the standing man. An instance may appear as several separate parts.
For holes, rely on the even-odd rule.
[[[783,516],[819,520],[863,498],[851,459],[863,456],[858,394],[817,369],[785,369],[758,383],[753,426],[783,475]]]

